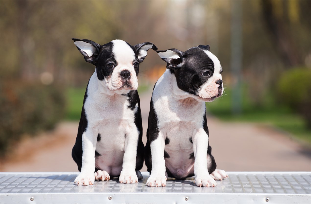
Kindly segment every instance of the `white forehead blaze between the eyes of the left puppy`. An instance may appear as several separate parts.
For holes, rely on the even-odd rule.
[[[132,64],[135,60],[135,53],[132,48],[123,40],[112,40],[111,42],[113,43],[112,52],[118,64]]]

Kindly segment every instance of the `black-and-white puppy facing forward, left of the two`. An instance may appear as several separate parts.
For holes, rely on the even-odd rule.
[[[139,63],[150,42],[130,45],[113,40],[99,45],[72,39],[86,62],[96,66],[86,88],[72,158],[80,174],[76,185],[119,176],[120,183],[137,183],[143,165],[142,117],[137,93]]]

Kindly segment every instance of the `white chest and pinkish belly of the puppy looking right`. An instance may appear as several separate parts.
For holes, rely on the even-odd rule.
[[[177,178],[193,173],[190,138],[203,127],[205,102],[197,101],[180,90],[169,70],[156,83],[152,101],[161,135],[169,139],[169,144],[165,145],[165,152],[169,155],[165,158],[166,167]]]

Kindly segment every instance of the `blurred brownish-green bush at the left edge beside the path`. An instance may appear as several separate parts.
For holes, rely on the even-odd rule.
[[[0,156],[23,134],[52,129],[62,118],[64,107],[65,98],[58,87],[0,82]]]

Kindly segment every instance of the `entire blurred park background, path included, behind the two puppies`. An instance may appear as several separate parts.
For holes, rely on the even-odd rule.
[[[101,45],[149,41],[159,50],[210,45],[225,87],[223,97],[207,103],[216,162],[218,156],[221,165],[239,171],[311,170],[311,1],[0,0],[0,5],[1,171],[77,171],[70,152],[95,67],[71,38]],[[153,50],[140,65],[144,133],[152,87],[165,65]],[[265,150],[266,145],[271,147]],[[257,147],[256,158],[235,161]],[[287,148],[289,153],[283,152]],[[275,158],[271,168],[248,164],[268,157]],[[278,165],[287,158],[301,159],[304,166]]]

